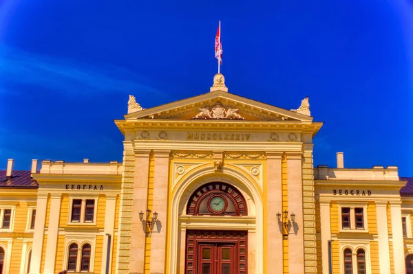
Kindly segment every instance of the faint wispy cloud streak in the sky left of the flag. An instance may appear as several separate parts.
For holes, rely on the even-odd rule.
[[[94,67],[75,60],[31,54],[0,43],[1,93],[6,93],[10,84],[31,84],[68,95],[163,94],[148,82],[121,67]]]

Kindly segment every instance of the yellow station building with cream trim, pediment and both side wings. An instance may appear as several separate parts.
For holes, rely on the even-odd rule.
[[[9,160],[0,274],[412,273],[413,187],[395,166],[313,166],[321,122],[228,92],[115,120],[123,162]],[[406,185],[407,184],[407,185]]]

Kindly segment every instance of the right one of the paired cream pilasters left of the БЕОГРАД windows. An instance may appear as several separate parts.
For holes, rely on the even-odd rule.
[[[59,233],[59,219],[61,207],[61,193],[51,194],[49,228],[47,230],[47,245],[45,256],[45,274],[54,273],[56,263],[57,236]]]

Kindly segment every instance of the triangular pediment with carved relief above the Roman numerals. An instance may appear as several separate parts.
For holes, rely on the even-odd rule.
[[[143,109],[125,115],[125,119],[313,121],[313,117],[224,91],[213,91],[150,109]]]

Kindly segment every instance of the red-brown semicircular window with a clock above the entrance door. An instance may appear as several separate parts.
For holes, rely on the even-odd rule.
[[[189,198],[187,214],[242,216],[247,214],[246,201],[232,185],[207,183]]]

